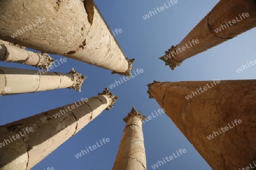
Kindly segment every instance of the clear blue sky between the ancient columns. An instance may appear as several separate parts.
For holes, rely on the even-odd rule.
[[[142,0],[136,3],[117,0],[96,0],[95,2],[110,29],[122,29],[122,33],[116,35],[115,38],[126,57],[136,58],[134,70],[143,69],[144,72],[110,90],[119,97],[114,107],[110,111],[102,112],[32,170],[43,170],[47,167],[67,170],[112,169],[125,128],[122,118],[126,117],[133,105],[145,116],[151,115],[160,108],[154,99],[148,99],[146,85],[153,80],[179,82],[256,78],[256,66],[251,66],[241,73],[236,72],[236,69],[246,65],[246,62],[256,59],[255,29],[185,60],[174,71],[158,59],[171,45],[179,44],[217,4],[217,0],[178,0],[175,5],[146,20],[142,16],[156,7],[163,6],[164,3],[167,4],[167,0]],[[52,55],[52,57],[59,59],[61,56]],[[0,125],[62,107],[81,100],[83,97],[96,96],[98,92],[102,92],[105,87],[121,78],[120,75],[112,75],[110,70],[70,58],[67,60],[52,71],[68,73],[73,67],[76,71],[88,76],[82,86],[82,92],[60,89],[2,96],[0,97]],[[0,62],[0,66],[36,70],[35,67],[18,63]],[[163,113],[145,122],[143,133],[147,169],[153,169],[151,165],[172,155],[180,148],[185,148],[187,152],[157,169],[211,169],[166,114]],[[110,142],[79,159],[75,158],[75,155],[85,150],[85,147],[94,145],[102,138],[109,138]]]

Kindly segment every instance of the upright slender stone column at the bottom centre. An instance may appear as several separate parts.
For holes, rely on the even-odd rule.
[[[142,121],[146,120],[141,112],[131,109],[131,112],[123,118],[126,122],[120,143],[117,158],[113,170],[145,170],[146,154],[144,148],[144,138],[142,131]]]

